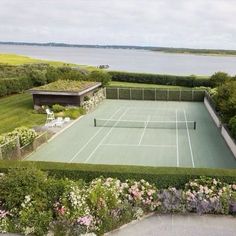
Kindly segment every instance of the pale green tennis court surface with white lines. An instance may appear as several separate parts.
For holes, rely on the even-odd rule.
[[[236,168],[200,102],[105,100],[27,160]]]

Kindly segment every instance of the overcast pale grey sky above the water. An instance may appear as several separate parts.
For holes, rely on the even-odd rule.
[[[236,0],[0,0],[0,41],[236,49]]]

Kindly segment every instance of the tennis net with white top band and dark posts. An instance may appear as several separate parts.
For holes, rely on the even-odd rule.
[[[196,121],[138,121],[95,118],[94,126],[114,128],[196,129]]]

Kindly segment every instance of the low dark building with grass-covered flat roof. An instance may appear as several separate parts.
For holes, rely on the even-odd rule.
[[[101,87],[100,82],[58,80],[53,83],[32,88],[34,108],[42,105],[60,104],[81,106],[84,97],[91,97]]]

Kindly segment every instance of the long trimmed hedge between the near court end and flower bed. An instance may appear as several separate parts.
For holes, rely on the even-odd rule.
[[[226,183],[236,182],[236,169],[207,169],[207,168],[175,168],[175,167],[145,167],[145,166],[118,166],[92,165],[56,162],[16,162],[0,161],[0,172],[7,172],[9,168],[36,166],[56,178],[83,179],[86,182],[104,176],[141,180],[156,184],[158,188],[175,186],[184,187],[190,179],[199,176],[218,178]]]

